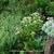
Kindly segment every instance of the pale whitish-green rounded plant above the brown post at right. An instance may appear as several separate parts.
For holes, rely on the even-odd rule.
[[[50,37],[54,37],[54,19],[48,21],[43,25],[42,30],[45,31]]]

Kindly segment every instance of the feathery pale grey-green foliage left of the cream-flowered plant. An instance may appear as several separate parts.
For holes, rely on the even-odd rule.
[[[15,28],[19,23],[18,17],[19,16],[8,12],[0,14],[0,51],[11,50],[17,40]]]

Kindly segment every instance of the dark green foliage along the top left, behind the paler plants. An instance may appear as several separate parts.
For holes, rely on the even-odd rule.
[[[0,13],[3,11],[28,15],[36,11],[36,4],[33,0],[0,0]]]

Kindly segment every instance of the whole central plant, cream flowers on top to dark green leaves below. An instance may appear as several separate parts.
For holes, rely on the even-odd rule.
[[[25,50],[36,50],[39,48],[39,40],[36,40],[35,35],[41,30],[42,25],[43,21],[41,19],[41,15],[37,12],[21,21],[21,25],[16,28],[15,35],[21,37],[19,39],[25,44]]]

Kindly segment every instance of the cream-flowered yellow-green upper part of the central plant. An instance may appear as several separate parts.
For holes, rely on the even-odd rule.
[[[42,27],[42,19],[39,13],[33,13],[27,17],[24,17],[23,21],[21,21],[21,29],[18,27],[17,32],[15,35],[22,35],[22,36],[32,36],[35,33],[38,33]]]

